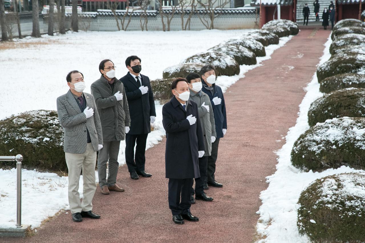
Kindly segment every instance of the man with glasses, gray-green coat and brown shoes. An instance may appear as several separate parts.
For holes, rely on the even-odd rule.
[[[122,82],[115,78],[115,66],[111,60],[101,61],[99,72],[101,77],[91,85],[103,129],[103,148],[99,150],[97,159],[99,186],[102,194],[124,192],[116,184],[116,175],[120,141],[125,139],[131,123],[126,92]]]

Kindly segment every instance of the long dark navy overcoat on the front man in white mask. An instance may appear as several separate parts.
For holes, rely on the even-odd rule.
[[[190,125],[187,116],[196,117]],[[166,131],[166,178],[199,178],[199,154],[204,151],[203,131],[201,130],[197,104],[189,100],[187,111],[174,97],[162,107],[162,123]]]

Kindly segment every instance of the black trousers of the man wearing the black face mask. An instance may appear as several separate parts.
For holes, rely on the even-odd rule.
[[[148,134],[126,134],[126,163],[130,173],[145,170],[147,136]]]

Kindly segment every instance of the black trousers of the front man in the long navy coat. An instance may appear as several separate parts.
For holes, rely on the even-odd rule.
[[[172,215],[190,213],[193,179],[169,179],[169,208]]]

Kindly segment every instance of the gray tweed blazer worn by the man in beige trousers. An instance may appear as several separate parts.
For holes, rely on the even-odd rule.
[[[94,109],[94,115],[88,119],[78,107],[70,90],[57,98],[58,119],[64,128],[64,151],[68,153],[85,153],[87,147],[86,128],[89,130],[94,151],[97,151],[98,144],[103,144],[103,133],[94,97],[85,92],[84,96],[86,106]]]

